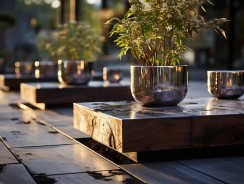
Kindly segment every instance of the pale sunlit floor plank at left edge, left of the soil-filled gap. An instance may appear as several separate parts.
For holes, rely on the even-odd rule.
[[[73,144],[73,140],[35,120],[10,120],[0,124],[0,136],[10,147]]]

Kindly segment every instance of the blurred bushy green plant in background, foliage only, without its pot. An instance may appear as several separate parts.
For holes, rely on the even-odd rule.
[[[69,22],[45,43],[45,49],[53,59],[95,60],[102,54],[103,37],[86,22]]]

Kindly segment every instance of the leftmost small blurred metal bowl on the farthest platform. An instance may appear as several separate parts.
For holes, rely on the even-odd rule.
[[[33,61],[16,61],[15,62],[16,75],[34,75]]]

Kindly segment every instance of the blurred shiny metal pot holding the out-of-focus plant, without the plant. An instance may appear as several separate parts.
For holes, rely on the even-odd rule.
[[[66,85],[86,85],[92,79],[92,63],[84,60],[58,60],[58,80]]]

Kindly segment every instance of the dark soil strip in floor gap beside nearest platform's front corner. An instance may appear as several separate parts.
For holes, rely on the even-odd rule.
[[[98,154],[104,156],[108,160],[118,164],[118,165],[125,165],[125,164],[134,164],[133,160],[129,159],[128,157],[124,156],[121,153],[97,142],[92,139],[79,139],[77,140],[80,143],[84,144],[85,146],[89,147],[93,151],[97,152]]]

